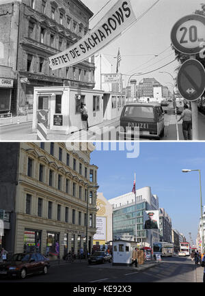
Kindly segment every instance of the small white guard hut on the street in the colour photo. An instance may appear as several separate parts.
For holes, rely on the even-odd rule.
[[[135,247],[137,247],[135,241],[113,241],[113,265],[130,266]]]

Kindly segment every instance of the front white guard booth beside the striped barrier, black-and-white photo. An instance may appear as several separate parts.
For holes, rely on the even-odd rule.
[[[81,103],[88,111],[88,124],[94,126],[103,122],[103,101],[101,90],[70,88],[64,86],[34,88],[33,132],[37,131],[39,113],[46,111],[48,134],[69,135],[82,129]]]

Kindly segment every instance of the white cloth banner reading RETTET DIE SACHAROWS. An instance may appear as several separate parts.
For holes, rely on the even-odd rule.
[[[83,62],[120,36],[136,20],[130,1],[119,0],[106,16],[70,48],[49,57],[52,70]]]

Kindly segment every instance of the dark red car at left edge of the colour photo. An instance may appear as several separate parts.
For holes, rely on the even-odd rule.
[[[49,266],[49,259],[40,253],[18,253],[14,254],[11,260],[0,263],[0,275],[15,275],[24,279],[32,273],[46,274]]]

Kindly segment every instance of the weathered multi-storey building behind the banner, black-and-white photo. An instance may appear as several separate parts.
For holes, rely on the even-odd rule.
[[[35,86],[94,88],[94,58],[59,70],[51,70],[48,59],[85,35],[92,15],[80,0],[3,1],[0,23],[8,28],[1,35],[0,65],[10,67],[5,78],[12,79],[12,94],[8,90],[9,104],[1,103],[1,112],[32,109]]]

